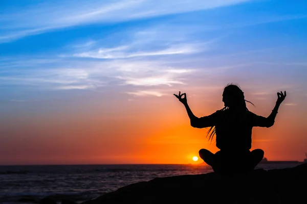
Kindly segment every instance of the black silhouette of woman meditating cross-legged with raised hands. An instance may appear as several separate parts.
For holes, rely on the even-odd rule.
[[[207,137],[209,136],[211,141],[216,135],[216,147],[220,150],[213,154],[207,149],[201,149],[200,157],[212,167],[214,172],[234,173],[253,170],[264,157],[262,149],[250,151],[252,128],[271,127],[274,124],[278,108],[286,97],[286,91],[277,93],[276,105],[267,118],[249,111],[246,101],[251,102],[245,100],[244,92],[233,84],[224,88],[225,107],[200,118],[196,117],[189,108],[186,93],[179,92],[178,95],[174,95],[185,106],[192,127],[210,127]]]

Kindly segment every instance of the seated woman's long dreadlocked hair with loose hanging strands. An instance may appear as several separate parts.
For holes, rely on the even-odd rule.
[[[255,106],[253,103],[251,103],[251,101],[244,99],[244,92],[237,85],[228,84],[224,88],[224,93],[226,93],[229,97],[231,97],[239,107],[242,107],[243,110],[248,111],[245,102],[248,102],[253,106]],[[225,106],[220,111],[225,111],[227,109],[229,109],[229,107]],[[212,142],[214,135],[215,135],[215,126],[211,126],[206,136],[206,137],[209,136],[208,141],[211,140]]]

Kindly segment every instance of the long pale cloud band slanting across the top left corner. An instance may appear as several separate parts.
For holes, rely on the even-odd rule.
[[[52,1],[6,10],[0,15],[0,42],[89,23],[120,22],[223,7],[249,0]],[[18,11],[18,12],[16,12]]]

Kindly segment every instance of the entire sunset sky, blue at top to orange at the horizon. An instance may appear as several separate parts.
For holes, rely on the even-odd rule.
[[[252,149],[307,152],[307,2],[28,0],[0,2],[0,165],[196,164],[238,85],[257,115]],[[252,150],[251,149],[251,150]]]

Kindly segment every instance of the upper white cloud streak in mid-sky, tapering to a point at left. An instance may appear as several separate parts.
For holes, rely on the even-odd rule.
[[[114,33],[95,41],[95,46],[78,49],[73,54],[63,54],[61,57],[124,59],[192,55],[210,50],[219,39],[195,39],[195,32],[190,31],[188,25],[182,25],[181,28],[174,28],[171,24],[151,25]]]

